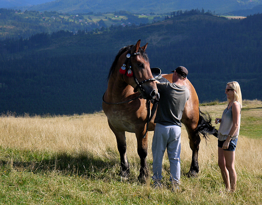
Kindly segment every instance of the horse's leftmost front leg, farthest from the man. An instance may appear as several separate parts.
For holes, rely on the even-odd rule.
[[[125,141],[125,132],[117,131],[109,122],[109,127],[114,132],[117,142],[117,149],[120,155],[120,176],[128,178],[130,170],[129,163],[126,155],[126,141]]]

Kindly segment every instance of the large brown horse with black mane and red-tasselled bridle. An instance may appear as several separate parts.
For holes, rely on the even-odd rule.
[[[153,105],[148,102],[157,102],[158,92],[156,78],[152,75],[145,51],[148,43],[142,47],[140,43],[141,40],[135,45],[122,47],[115,56],[108,74],[108,87],[103,95],[102,108],[116,137],[120,155],[120,176],[128,178],[130,174],[125,132],[133,132],[136,134],[140,157],[138,179],[145,181],[149,174],[146,162],[148,131],[154,131],[155,128],[155,112],[151,112]],[[162,76],[172,82],[172,74]],[[212,126],[210,116],[207,117],[200,111],[197,92],[188,79],[184,81],[184,85],[188,88],[190,97],[185,104],[181,122],[186,127],[192,150],[192,161],[187,175],[196,176],[199,172],[200,134],[207,139],[207,134],[216,135],[217,130]]]

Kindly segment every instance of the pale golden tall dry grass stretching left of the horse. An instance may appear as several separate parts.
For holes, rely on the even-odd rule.
[[[0,118],[2,147],[53,152],[90,151],[100,155],[114,147],[104,114]]]

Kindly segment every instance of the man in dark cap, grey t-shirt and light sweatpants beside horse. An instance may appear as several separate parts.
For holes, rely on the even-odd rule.
[[[161,187],[162,161],[167,149],[170,163],[170,181],[178,188],[180,180],[181,118],[189,90],[183,85],[188,71],[178,66],[173,72],[172,82],[157,83],[160,94],[155,118],[155,131],[152,142],[154,186]]]

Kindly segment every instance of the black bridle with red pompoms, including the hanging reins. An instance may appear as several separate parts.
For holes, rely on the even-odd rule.
[[[105,93],[104,93],[103,98],[102,98],[104,103],[111,104],[111,105],[114,104],[115,105],[115,104],[122,104],[122,103],[127,103],[127,102],[131,102],[133,100],[136,100],[136,99],[140,98],[141,96],[143,96],[143,94],[146,92],[143,89],[142,84],[146,83],[146,82],[150,82],[150,81],[155,81],[156,80],[155,78],[151,78],[151,79],[147,79],[147,80],[142,81],[142,82],[138,81],[138,79],[135,76],[135,73],[132,70],[131,59],[130,59],[132,56],[136,56],[136,55],[140,55],[140,52],[131,53],[131,49],[129,49],[127,51],[127,54],[126,54],[126,58],[125,58],[124,64],[121,66],[119,72],[122,75],[126,75],[129,78],[131,78],[133,76],[133,78],[134,78],[134,80],[135,80],[135,82],[137,84],[136,88],[134,88],[134,93],[138,92],[138,88],[139,88],[141,90],[141,95],[139,95],[138,97],[135,97],[133,99],[124,101],[124,102],[110,103],[110,102],[104,101],[104,96],[105,96]],[[126,71],[126,66],[128,67],[128,71]],[[148,109],[147,109],[148,110],[148,113],[147,113],[147,124],[146,124],[146,132],[145,132],[143,138],[146,137],[146,134],[148,132],[148,124],[151,121],[151,119],[152,119],[152,117],[155,114],[155,111],[157,109],[158,98],[159,98],[159,94],[157,95],[156,99],[154,99],[154,100],[147,99],[147,106],[148,106]],[[153,104],[152,111],[150,110],[150,103]],[[151,112],[151,114],[150,114],[150,112]]]

